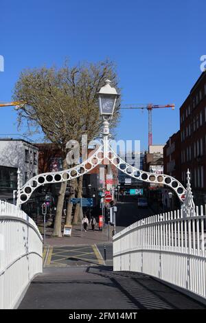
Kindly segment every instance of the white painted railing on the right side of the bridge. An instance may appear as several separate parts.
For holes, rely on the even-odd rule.
[[[113,237],[115,271],[139,271],[206,298],[206,208],[150,216]]]

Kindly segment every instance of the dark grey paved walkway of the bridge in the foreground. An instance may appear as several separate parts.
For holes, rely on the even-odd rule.
[[[137,273],[112,267],[46,267],[19,309],[205,309],[187,296]]]

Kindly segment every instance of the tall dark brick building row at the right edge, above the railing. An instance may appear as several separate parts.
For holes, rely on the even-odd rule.
[[[176,153],[167,156],[167,149],[172,149],[172,144],[176,146]],[[172,172],[172,176],[186,186],[189,168],[194,201],[197,205],[206,203],[206,71],[183,102],[180,108],[180,131],[170,137],[164,151],[165,173]],[[172,162],[175,163],[173,170],[170,168]]]

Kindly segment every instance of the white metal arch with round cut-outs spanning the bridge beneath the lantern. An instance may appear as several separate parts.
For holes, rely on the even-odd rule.
[[[138,168],[131,166],[113,151],[111,146],[108,145],[107,137],[104,137],[103,144],[91,157],[89,157],[89,159],[84,161],[82,164],[67,170],[62,170],[60,172],[45,172],[32,177],[22,188],[18,190],[17,205],[21,205],[28,201],[34,190],[36,190],[36,188],[39,186],[48,183],[60,183],[62,181],[69,181],[71,179],[78,178],[84,174],[87,174],[87,172],[101,164],[103,159],[108,159],[111,164],[130,177],[145,181],[147,183],[161,183],[169,186],[176,192],[180,201],[183,202],[183,196],[186,194],[187,190],[179,181],[169,175],[145,172],[144,170],[139,170]]]

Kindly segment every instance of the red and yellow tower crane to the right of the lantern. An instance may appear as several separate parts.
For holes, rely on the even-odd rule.
[[[141,104],[141,107],[137,107],[140,104],[125,104],[120,109],[147,109],[148,110],[148,146],[152,145],[152,110],[172,108],[174,110],[174,104]]]

